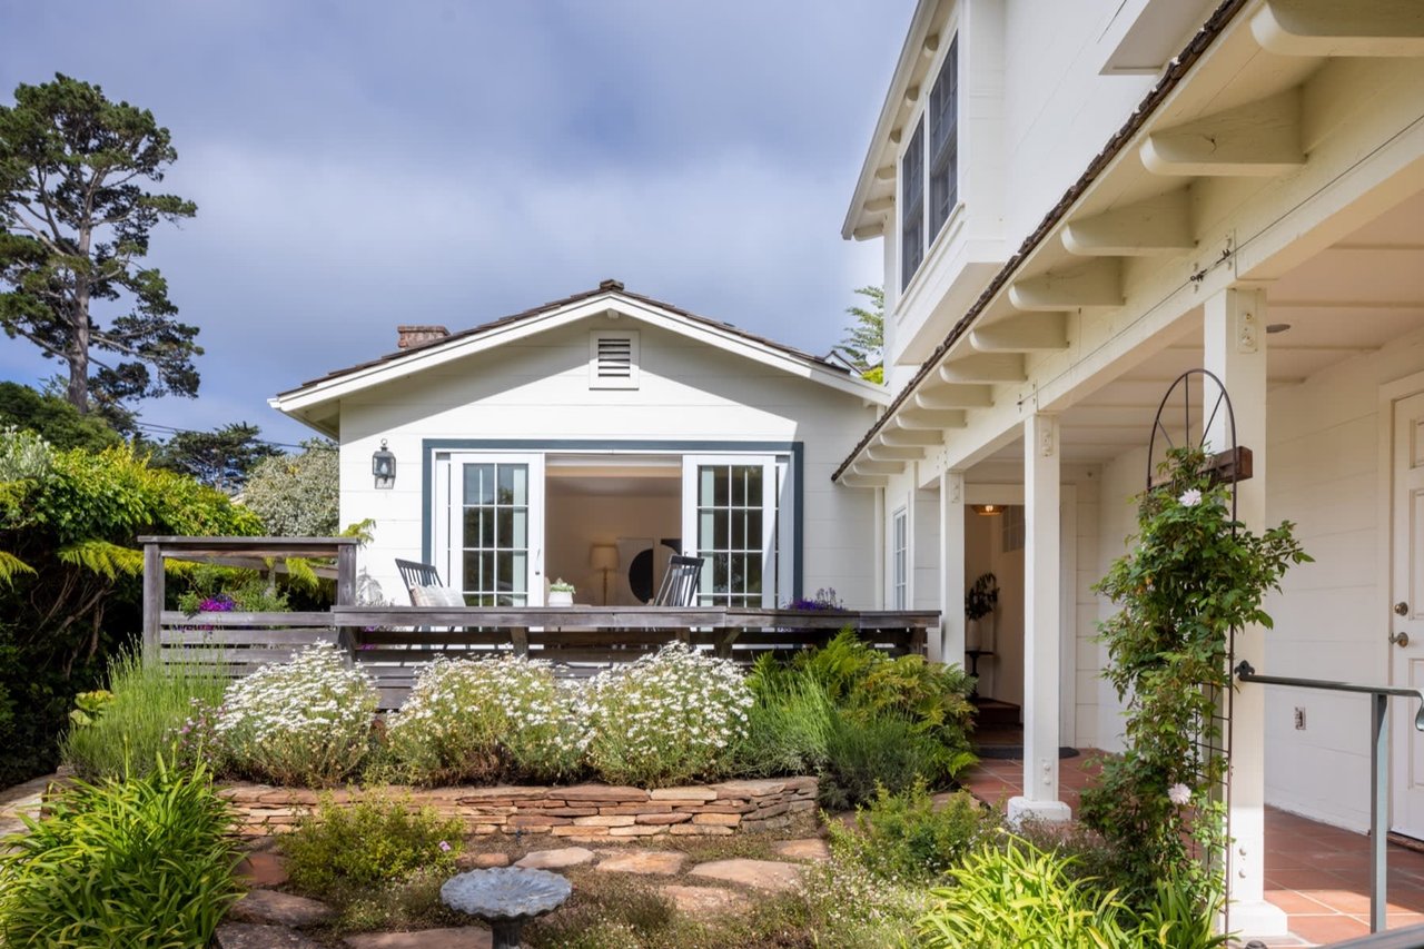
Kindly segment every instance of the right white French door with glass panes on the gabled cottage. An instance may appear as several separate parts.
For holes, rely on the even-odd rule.
[[[792,588],[790,466],[770,455],[682,459],[682,553],[698,603],[772,608]]]

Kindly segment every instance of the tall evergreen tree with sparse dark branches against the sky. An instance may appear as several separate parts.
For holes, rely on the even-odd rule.
[[[197,214],[145,190],[178,157],[168,130],[67,76],[21,84],[14,100],[0,107],[0,326],[67,363],[66,398],[80,412],[91,390],[108,403],[197,395],[198,329],[178,322],[168,284],[142,265],[154,227]]]

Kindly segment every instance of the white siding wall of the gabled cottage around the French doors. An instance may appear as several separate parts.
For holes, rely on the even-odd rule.
[[[639,331],[639,388],[588,388],[588,333]],[[871,492],[837,487],[830,472],[874,413],[853,395],[692,343],[628,319],[591,319],[392,382],[342,403],[342,523],[376,520],[362,567],[387,601],[406,591],[390,563],[422,557],[424,439],[800,442],[806,591],[834,587],[871,606],[866,566]],[[370,455],[386,439],[396,487],[376,490]],[[557,530],[557,524],[548,524]]]

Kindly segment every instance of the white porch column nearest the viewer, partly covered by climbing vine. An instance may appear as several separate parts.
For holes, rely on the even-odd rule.
[[[1252,450],[1250,480],[1236,486],[1237,517],[1252,531],[1266,527],[1266,294],[1227,289],[1205,304],[1205,368],[1226,386],[1236,410],[1236,443]],[[1216,400],[1203,390],[1209,418]],[[1230,449],[1225,409],[1206,433],[1210,452]],[[1236,661],[1269,673],[1260,627],[1236,634]],[[1230,926],[1243,936],[1286,933],[1286,913],[1265,898],[1266,694],[1260,685],[1239,690],[1232,701],[1232,859],[1226,881]]]

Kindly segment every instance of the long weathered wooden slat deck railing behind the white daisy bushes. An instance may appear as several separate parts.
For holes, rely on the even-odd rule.
[[[161,614],[168,663],[221,667],[244,675],[290,658],[312,643],[340,643],[376,680],[382,707],[399,707],[419,668],[437,657],[528,655],[591,675],[665,643],[750,663],[789,655],[850,628],[876,648],[923,653],[934,611],[802,611],[726,607],[369,607],[330,613]]]

